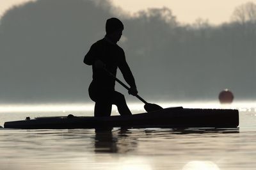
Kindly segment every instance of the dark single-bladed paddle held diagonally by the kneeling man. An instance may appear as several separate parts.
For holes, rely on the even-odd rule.
[[[120,81],[119,79],[117,79],[117,78],[115,77],[115,75],[113,75],[113,73],[109,72],[106,68],[104,68],[104,70],[105,70],[106,72],[108,72],[109,75],[111,75],[111,77],[113,77],[113,78],[115,79],[115,81],[117,81],[119,84],[121,84],[125,89],[127,89],[127,90],[130,89],[128,86],[126,86],[126,85],[124,84],[124,82],[122,82],[122,81]],[[138,94],[135,95],[135,97],[137,97],[138,99],[140,99],[141,102],[143,102],[143,103],[145,104],[145,105],[144,105],[144,109],[145,109],[145,111],[147,111],[147,112],[158,111],[158,110],[163,109],[163,107],[161,107],[160,105],[157,105],[157,104],[150,104],[150,103],[146,102],[146,101],[145,101],[143,98],[141,98]]]

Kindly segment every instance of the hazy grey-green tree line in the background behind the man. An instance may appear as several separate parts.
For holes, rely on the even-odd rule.
[[[217,100],[229,88],[237,100],[252,100],[255,9],[254,3],[241,4],[230,22],[212,26],[202,19],[180,24],[168,8],[129,17],[109,1],[38,0],[16,6],[1,18],[0,100],[88,101],[92,70],[83,65],[83,56],[103,38],[106,19],[113,16],[124,22],[119,45],[143,97]]]

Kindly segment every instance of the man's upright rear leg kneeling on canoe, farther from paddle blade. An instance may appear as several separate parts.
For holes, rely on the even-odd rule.
[[[109,102],[95,102],[94,106],[94,116],[95,117],[103,117],[103,116],[110,116],[112,110],[112,104]]]

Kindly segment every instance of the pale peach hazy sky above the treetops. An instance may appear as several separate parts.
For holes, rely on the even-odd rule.
[[[8,8],[29,0],[0,0],[0,16]],[[173,11],[180,22],[191,23],[198,18],[209,19],[211,24],[220,24],[230,20],[236,6],[256,0],[112,0],[127,12],[137,12],[146,8],[166,6]]]

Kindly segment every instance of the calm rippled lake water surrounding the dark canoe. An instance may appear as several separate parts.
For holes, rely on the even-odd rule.
[[[223,108],[218,104],[183,106]],[[130,107],[141,112],[141,105]],[[239,109],[239,128],[1,129],[0,169],[256,169],[253,103],[228,107]],[[26,116],[92,115],[90,109],[93,107],[83,105],[0,105],[0,125]]]

